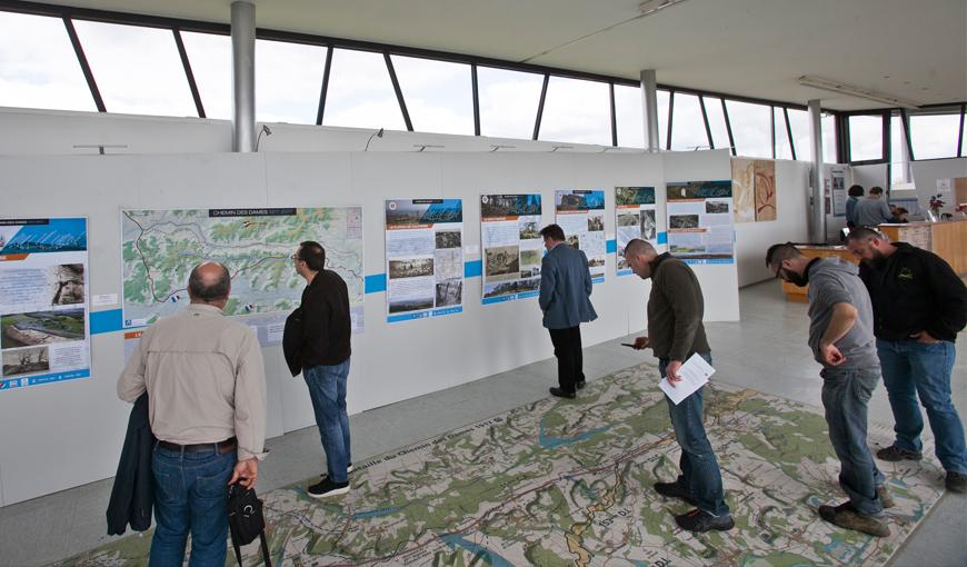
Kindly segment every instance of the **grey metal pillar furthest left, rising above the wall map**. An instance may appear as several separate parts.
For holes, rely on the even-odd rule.
[[[231,3],[231,149],[256,148],[256,4]]]

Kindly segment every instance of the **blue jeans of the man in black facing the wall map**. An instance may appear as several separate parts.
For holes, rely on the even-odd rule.
[[[352,461],[349,447],[349,416],[346,414],[346,378],[349,376],[349,359],[332,366],[313,366],[302,369],[309,387],[316,425],[326,451],[326,470],[329,480],[348,483],[346,467]]]

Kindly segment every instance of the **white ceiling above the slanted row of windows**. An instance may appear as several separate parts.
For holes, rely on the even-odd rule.
[[[229,0],[66,6],[228,23]],[[297,31],[855,110],[816,74],[920,103],[967,100],[967,0],[256,0],[259,28]]]

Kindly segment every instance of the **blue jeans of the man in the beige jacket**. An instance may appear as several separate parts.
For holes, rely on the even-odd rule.
[[[228,481],[236,451],[186,452],[154,447],[154,520],[151,567],[180,567],[191,533],[191,567],[223,566],[228,535]]]

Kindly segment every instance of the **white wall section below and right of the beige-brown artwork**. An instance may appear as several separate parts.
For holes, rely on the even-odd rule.
[[[809,240],[809,163],[776,160],[776,220],[736,225],[740,287],[772,277],[765,261],[769,246]]]

